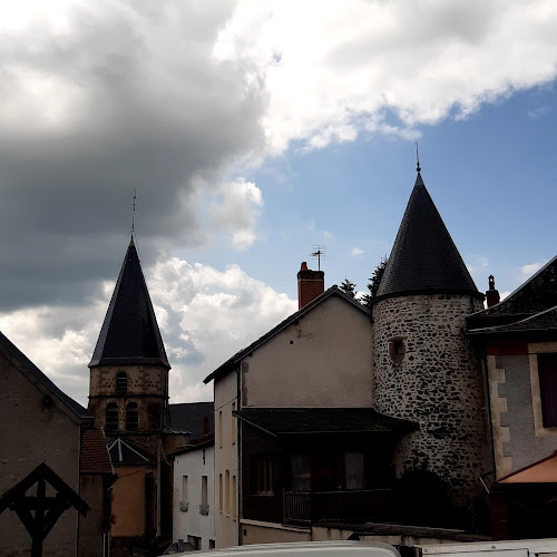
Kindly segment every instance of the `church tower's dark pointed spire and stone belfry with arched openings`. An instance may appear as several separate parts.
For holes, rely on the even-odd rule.
[[[133,236],[89,369],[95,426],[148,449],[168,421],[170,365]]]

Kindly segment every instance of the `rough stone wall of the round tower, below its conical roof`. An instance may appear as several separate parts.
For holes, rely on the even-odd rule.
[[[397,476],[424,460],[449,481],[456,502],[480,490],[489,470],[483,378],[465,316],[482,309],[465,295],[413,295],[373,307],[374,405],[420,423],[395,449]]]

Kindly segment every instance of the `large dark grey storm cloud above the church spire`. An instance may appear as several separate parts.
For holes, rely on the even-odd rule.
[[[213,57],[232,6],[207,4],[100,2],[0,40],[0,309],[114,278],[135,190],[144,257],[205,241],[193,178],[219,185],[265,104],[250,68]]]

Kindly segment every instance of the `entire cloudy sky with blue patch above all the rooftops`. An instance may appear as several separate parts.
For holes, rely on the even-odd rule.
[[[0,0],[0,331],[87,404],[131,234],[170,402],[325,286],[421,175],[480,291],[557,255],[554,0]]]

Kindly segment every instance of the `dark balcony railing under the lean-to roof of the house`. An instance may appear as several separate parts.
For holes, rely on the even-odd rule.
[[[284,522],[312,524],[324,520],[388,519],[391,490],[284,491]]]

